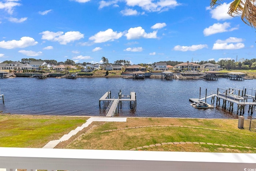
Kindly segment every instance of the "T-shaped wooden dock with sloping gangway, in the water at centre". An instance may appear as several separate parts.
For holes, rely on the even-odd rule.
[[[130,92],[130,94],[124,95],[120,90],[120,92],[118,93],[118,98],[111,98],[111,91],[108,91],[99,99],[100,109],[101,101],[103,101],[104,105],[106,105],[106,101],[110,101],[108,108],[106,109],[106,117],[111,117],[114,116],[114,114],[119,113],[119,106],[122,109],[122,101],[130,101],[130,108],[136,108],[136,93]]]

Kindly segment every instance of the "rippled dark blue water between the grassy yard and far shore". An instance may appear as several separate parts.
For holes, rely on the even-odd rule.
[[[256,88],[256,80],[218,81],[161,79],[133,80],[122,78],[78,79],[0,79],[0,110],[11,114],[86,115],[104,116],[106,107],[99,109],[99,98],[108,90],[112,97],[136,92],[137,108],[130,110],[130,102],[122,102],[120,116],[185,117],[185,118],[238,118],[236,105],[233,114],[219,108],[196,109],[189,98],[199,97],[199,87],[204,94],[217,88]],[[210,100],[210,99],[209,99]],[[209,102],[210,103],[210,102]],[[228,105],[228,104],[227,104]],[[248,106],[247,106],[248,107]],[[256,110],[252,117],[255,118]],[[245,112],[246,118],[250,114]]]

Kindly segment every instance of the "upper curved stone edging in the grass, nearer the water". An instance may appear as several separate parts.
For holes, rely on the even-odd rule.
[[[194,127],[194,126],[178,126],[178,125],[151,125],[151,126],[134,126],[134,127],[128,127],[128,128],[119,128],[114,130],[105,130],[100,133],[104,132],[112,132],[112,131],[120,131],[120,130],[128,130],[128,129],[134,129],[134,128],[147,128],[147,127],[180,127],[180,128],[196,128],[196,129],[204,129],[204,130],[214,130],[214,131],[222,131],[222,132],[230,132],[230,133],[236,133],[236,134],[244,134],[240,132],[233,132],[233,131],[226,131],[226,130],[218,130],[218,129],[212,129],[212,128],[202,128],[202,127]],[[250,134],[244,134],[251,136]]]

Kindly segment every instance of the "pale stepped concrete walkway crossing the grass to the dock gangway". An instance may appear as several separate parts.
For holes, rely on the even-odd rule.
[[[82,129],[88,127],[92,122],[126,122],[127,118],[104,118],[104,117],[91,117],[82,126],[78,126],[75,130],[71,130],[68,134],[65,134],[59,140],[52,140],[44,145],[43,148],[54,148],[58,143],[69,140],[70,137],[76,135]]]

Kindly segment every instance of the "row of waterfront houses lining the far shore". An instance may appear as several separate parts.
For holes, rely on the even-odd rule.
[[[218,64],[206,63],[203,65],[199,65],[197,63],[186,62],[175,65],[174,67],[171,65],[167,65],[166,63],[156,63],[152,66],[142,67],[140,65],[129,65],[129,66],[120,66],[120,65],[102,65],[102,64],[87,64],[86,66],[81,65],[82,72],[92,72],[95,70],[105,69],[108,71],[112,70],[120,70],[125,69],[126,72],[132,71],[144,71],[154,70],[154,71],[220,71],[222,68]],[[39,70],[39,69],[53,69],[56,71],[64,71],[66,69],[77,69],[73,65],[50,65],[44,61],[32,61],[31,63],[20,63],[14,61],[12,63],[0,63],[0,70],[10,69],[10,70]]]

